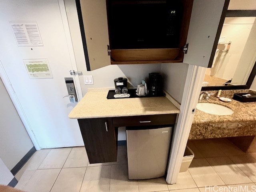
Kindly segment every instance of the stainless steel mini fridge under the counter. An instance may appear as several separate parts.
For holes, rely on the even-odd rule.
[[[166,173],[172,127],[126,127],[128,177],[150,179]]]

